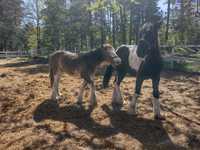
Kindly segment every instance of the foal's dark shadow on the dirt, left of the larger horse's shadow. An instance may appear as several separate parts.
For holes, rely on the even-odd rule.
[[[92,111],[92,108],[85,109],[83,107],[77,107],[76,105],[59,107],[55,101],[47,99],[36,108],[33,119],[36,122],[41,122],[45,119],[70,122],[80,129],[85,129],[98,135],[98,137],[107,137],[116,132],[110,126],[102,126],[96,123],[90,116]]]

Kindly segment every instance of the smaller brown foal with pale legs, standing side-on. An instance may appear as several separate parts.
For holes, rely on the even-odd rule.
[[[91,87],[90,105],[95,106],[95,86],[94,86],[94,73],[97,66],[101,64],[119,65],[121,59],[116,54],[115,49],[109,45],[104,44],[101,48],[86,52],[86,53],[71,53],[67,51],[56,51],[49,56],[49,77],[52,87],[51,98],[58,100],[59,94],[59,80],[61,73],[65,72],[69,75],[80,75],[83,79],[80,88],[77,104],[82,104],[82,97],[84,89],[87,84]]]

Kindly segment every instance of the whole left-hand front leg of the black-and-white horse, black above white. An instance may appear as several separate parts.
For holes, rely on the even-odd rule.
[[[129,107],[128,107],[128,113],[131,114],[131,115],[137,114],[137,101],[138,101],[138,97],[139,97],[140,92],[141,92],[141,87],[142,87],[143,81],[144,81],[144,79],[137,76],[136,86],[135,86],[135,94],[133,95],[133,97],[130,101]]]

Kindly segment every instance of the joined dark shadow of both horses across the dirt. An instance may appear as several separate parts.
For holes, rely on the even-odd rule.
[[[36,108],[33,119],[36,122],[45,119],[70,122],[98,138],[125,133],[140,141],[144,149],[184,149],[171,141],[160,121],[133,117],[124,111],[115,112],[107,105],[103,105],[102,109],[110,117],[110,125],[101,125],[91,118],[92,109],[78,108],[74,105],[59,108],[52,100],[41,103]]]

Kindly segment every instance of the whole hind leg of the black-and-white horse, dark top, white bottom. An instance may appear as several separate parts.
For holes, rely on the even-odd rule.
[[[123,98],[120,91],[120,83],[124,79],[125,75],[126,75],[126,71],[121,71],[121,72],[118,71],[116,75],[115,87],[114,87],[113,95],[112,95],[113,105],[119,105],[119,106],[123,105]]]

